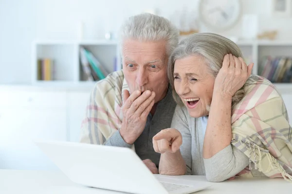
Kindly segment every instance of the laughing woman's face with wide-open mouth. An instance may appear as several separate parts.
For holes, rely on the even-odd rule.
[[[174,87],[191,117],[209,114],[215,78],[203,57],[191,55],[177,59],[174,65]]]

